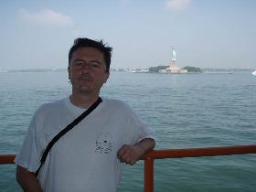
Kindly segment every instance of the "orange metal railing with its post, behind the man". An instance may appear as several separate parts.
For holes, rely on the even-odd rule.
[[[154,192],[154,160],[164,158],[183,158],[217,155],[256,154],[256,144],[239,146],[220,146],[190,149],[153,150],[144,155],[144,192]],[[0,155],[0,165],[14,164],[16,155]]]

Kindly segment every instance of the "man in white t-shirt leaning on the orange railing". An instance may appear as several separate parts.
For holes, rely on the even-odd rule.
[[[16,156],[16,178],[27,192],[114,192],[120,162],[133,165],[155,147],[153,132],[123,101],[102,98],[99,106],[40,158],[63,128],[98,101],[110,75],[112,48],[78,38],[69,50],[69,98],[44,104],[35,113]]]

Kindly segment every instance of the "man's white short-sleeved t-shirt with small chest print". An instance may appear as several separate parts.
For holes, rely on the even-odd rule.
[[[35,113],[16,165],[36,172],[51,139],[84,109],[69,98],[42,105]],[[37,178],[45,192],[114,192],[121,177],[117,151],[154,133],[123,101],[102,98],[89,116],[51,148]]]

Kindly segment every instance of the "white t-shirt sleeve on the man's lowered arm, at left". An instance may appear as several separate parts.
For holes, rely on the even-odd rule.
[[[24,168],[27,168],[30,172],[36,172],[40,162],[40,142],[37,139],[37,123],[36,115],[32,118],[29,128],[22,144],[21,150],[16,155],[15,163]]]

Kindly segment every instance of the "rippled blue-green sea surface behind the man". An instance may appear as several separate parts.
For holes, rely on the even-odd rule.
[[[0,154],[16,154],[37,107],[66,97],[66,72],[0,73]],[[251,73],[112,72],[101,96],[126,101],[155,130],[156,149],[256,143]],[[15,165],[0,165],[0,191],[21,191]],[[144,162],[123,165],[118,192],[143,191]],[[155,160],[155,192],[254,192],[256,155]]]

